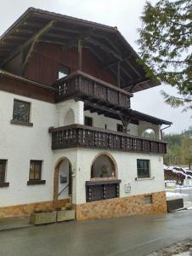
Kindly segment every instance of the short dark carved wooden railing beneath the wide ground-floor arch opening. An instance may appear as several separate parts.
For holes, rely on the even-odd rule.
[[[99,201],[119,197],[121,180],[101,180],[86,182],[86,201]]]

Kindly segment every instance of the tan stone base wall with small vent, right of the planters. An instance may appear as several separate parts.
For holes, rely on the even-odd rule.
[[[76,219],[120,218],[138,214],[167,212],[166,193],[164,191],[146,195],[152,195],[152,204],[144,203],[144,195],[133,195],[76,205]]]

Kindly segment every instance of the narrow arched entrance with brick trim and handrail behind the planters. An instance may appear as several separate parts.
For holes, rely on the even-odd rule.
[[[61,158],[54,168],[54,206],[59,200],[71,198],[72,166],[68,158]]]

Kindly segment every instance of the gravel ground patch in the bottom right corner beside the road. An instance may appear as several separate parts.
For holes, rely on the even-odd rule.
[[[164,247],[148,256],[190,256],[192,255],[192,239],[178,241],[170,247]]]

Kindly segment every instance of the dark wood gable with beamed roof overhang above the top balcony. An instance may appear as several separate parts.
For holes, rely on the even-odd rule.
[[[113,26],[30,8],[0,38],[0,68],[28,79],[49,84],[60,64],[73,70],[76,63],[85,73],[130,92],[159,84],[146,78],[137,53]]]

